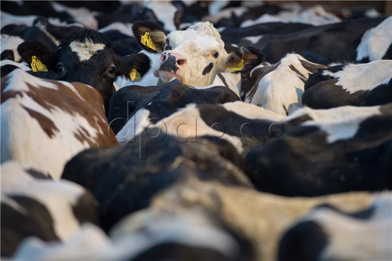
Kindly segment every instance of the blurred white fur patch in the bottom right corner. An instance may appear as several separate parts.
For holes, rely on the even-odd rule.
[[[320,260],[391,260],[392,195],[378,196],[369,219],[357,219],[327,208],[310,211],[305,220],[321,225],[328,245]]]

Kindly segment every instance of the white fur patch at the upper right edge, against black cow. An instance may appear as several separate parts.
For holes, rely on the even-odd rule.
[[[368,29],[357,47],[357,61],[368,57],[369,61],[381,60],[392,44],[392,16],[374,28]]]

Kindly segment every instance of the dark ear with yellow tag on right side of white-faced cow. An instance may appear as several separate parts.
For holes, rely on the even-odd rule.
[[[264,60],[264,54],[253,47],[241,47],[231,52],[226,60],[226,68],[232,72],[245,73]]]

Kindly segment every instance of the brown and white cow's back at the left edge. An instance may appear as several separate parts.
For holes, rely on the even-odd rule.
[[[33,164],[59,179],[74,154],[112,144],[102,97],[91,86],[20,69],[1,78],[1,162]]]

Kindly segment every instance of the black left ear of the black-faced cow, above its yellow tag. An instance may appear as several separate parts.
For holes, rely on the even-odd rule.
[[[26,41],[21,43],[18,48],[18,53],[25,60],[28,66],[31,68],[32,56],[36,56],[45,64],[48,68],[51,65],[53,52],[46,47],[45,44],[39,41]]]

